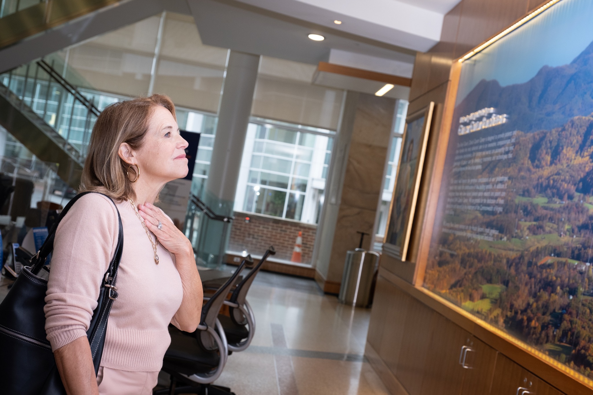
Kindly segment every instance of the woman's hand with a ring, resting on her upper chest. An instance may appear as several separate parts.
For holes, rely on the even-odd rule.
[[[145,203],[138,207],[138,211],[148,230],[157,236],[158,242],[173,253],[176,258],[192,256],[193,249],[189,239],[177,229],[173,222],[163,213],[163,211],[153,204]],[[160,229],[158,228],[161,223]]]

